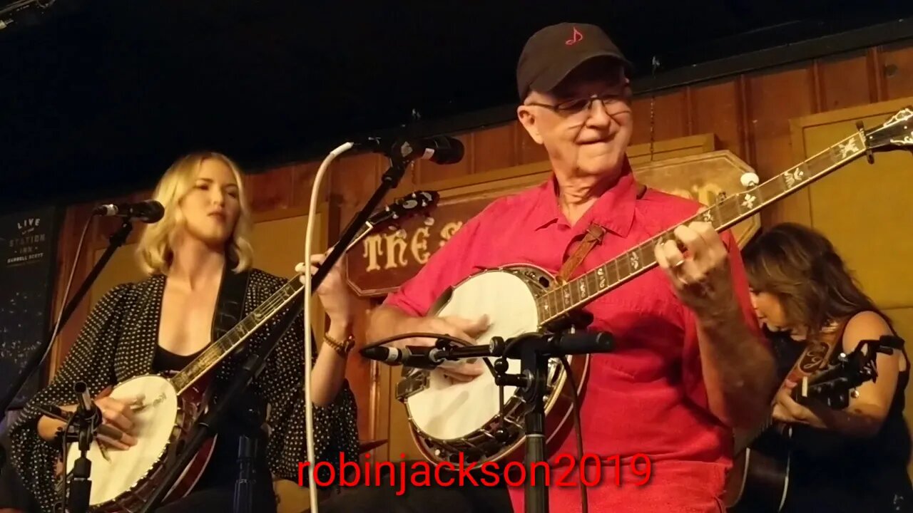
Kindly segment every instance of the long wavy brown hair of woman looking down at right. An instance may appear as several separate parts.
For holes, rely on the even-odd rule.
[[[742,257],[752,290],[779,298],[792,326],[818,333],[866,310],[890,323],[859,288],[831,241],[813,228],[776,225],[751,241]]]

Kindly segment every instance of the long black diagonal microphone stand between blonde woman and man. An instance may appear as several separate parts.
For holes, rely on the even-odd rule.
[[[327,256],[326,260],[324,260],[323,264],[320,265],[317,272],[311,278],[311,288],[313,290],[317,290],[317,288],[320,287],[320,283],[323,282],[323,279],[330,273],[332,267],[336,265],[336,262],[339,261],[345,253],[352,240],[358,236],[362,226],[367,222],[368,218],[377,208],[377,205],[381,204],[383,197],[388,194],[390,190],[394,189],[403,179],[405,170],[411,161],[394,152],[391,153],[392,154],[388,155],[391,164],[387,171],[383,173],[380,186],[371,198],[368,199],[368,202],[362,207],[362,210],[358,215],[355,216],[355,220],[348,226],[345,233],[340,237],[339,242],[333,246],[330,255]],[[158,486],[152,491],[152,495],[147,497],[146,503],[143,505],[143,508],[139,510],[139,513],[150,513],[155,508],[159,507],[174,483],[176,483],[177,479],[184,473],[184,468],[194,459],[194,455],[196,455],[200,447],[208,438],[212,437],[217,432],[219,423],[225,417],[229,405],[236,401],[238,395],[247,389],[250,382],[256,379],[257,375],[266,367],[269,354],[276,348],[278,341],[285,332],[289,330],[292,322],[304,307],[304,298],[301,295],[301,291],[303,291],[303,288],[299,289],[297,297],[289,303],[286,307],[286,311],[279,314],[280,317],[277,316],[280,320],[269,329],[268,336],[260,346],[259,351],[252,353],[241,368],[238,369],[238,372],[235,373],[235,377],[229,383],[225,393],[222,393],[219,401],[215,402],[215,406],[211,406],[206,414],[194,424],[194,427],[186,438],[183,449],[176,455],[171,466],[165,469],[162,481],[160,481]],[[310,326],[306,326],[305,331],[310,333]],[[310,362],[308,362],[308,364],[310,365]],[[244,498],[244,494],[242,494],[241,498]]]

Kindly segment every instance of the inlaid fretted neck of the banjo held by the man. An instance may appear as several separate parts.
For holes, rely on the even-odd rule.
[[[913,111],[908,111],[906,115],[913,117]],[[888,121],[888,123],[890,122]],[[888,123],[876,131],[887,127]],[[869,139],[871,136],[867,136],[865,132],[856,132],[761,185],[739,194],[723,197],[719,202],[688,218],[682,225],[701,221],[713,225],[717,232],[736,225],[759,212],[763,207],[795,193],[835,169],[854,161],[863,153],[869,152],[870,147],[866,144]],[[563,318],[573,310],[581,308],[655,267],[654,248],[661,242],[677,242],[674,230],[675,227],[668,229],[602,266],[566,283],[556,284],[554,288],[540,295],[536,298],[539,319],[542,319],[540,327],[545,327],[554,320]]]

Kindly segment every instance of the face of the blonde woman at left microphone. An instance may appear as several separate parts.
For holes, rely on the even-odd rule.
[[[210,246],[221,246],[232,236],[241,212],[238,183],[224,162],[206,159],[181,200],[187,235]]]

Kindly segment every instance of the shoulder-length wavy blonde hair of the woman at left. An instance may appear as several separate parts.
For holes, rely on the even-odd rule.
[[[172,164],[166,171],[152,199],[161,203],[165,214],[158,223],[145,225],[137,247],[137,257],[140,267],[147,276],[167,275],[173,260],[173,236],[178,233],[177,228],[184,225],[184,215],[178,204],[193,187],[200,167],[207,159],[220,161],[235,175],[237,182],[238,203],[240,212],[235,229],[226,244],[226,257],[235,267],[236,273],[247,270],[253,265],[254,250],[250,245],[250,207],[247,204],[247,194],[244,190],[241,170],[237,164],[221,153],[194,152],[184,155]]]

